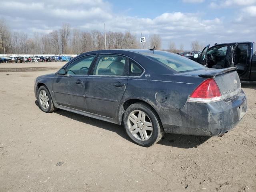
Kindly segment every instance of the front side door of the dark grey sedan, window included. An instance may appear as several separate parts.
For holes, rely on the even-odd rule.
[[[85,110],[84,86],[96,55],[83,56],[65,66],[53,82],[54,98],[58,105]]]

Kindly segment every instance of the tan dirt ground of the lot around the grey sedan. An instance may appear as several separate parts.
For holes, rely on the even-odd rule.
[[[34,79],[50,72],[0,72],[0,192],[256,191],[256,85],[242,86],[248,113],[224,136],[144,148],[122,126],[42,112]]]

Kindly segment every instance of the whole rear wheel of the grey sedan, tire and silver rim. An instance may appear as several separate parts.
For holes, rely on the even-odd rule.
[[[142,102],[132,104],[125,110],[123,124],[128,136],[140,146],[152,146],[164,136],[164,129],[156,112]]]

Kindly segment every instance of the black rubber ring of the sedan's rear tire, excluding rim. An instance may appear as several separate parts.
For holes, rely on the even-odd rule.
[[[149,117],[150,120],[153,124],[153,132],[151,137],[146,140],[146,141],[141,141],[136,139],[129,131],[128,125],[127,125],[127,120],[128,120],[128,116],[130,114],[130,112],[134,111],[134,110],[141,110],[143,112],[145,112]],[[152,109],[150,109],[150,107],[144,105],[144,104],[140,104],[140,103],[135,103],[130,105],[124,112],[124,118],[123,118],[123,124],[126,130],[126,133],[128,134],[128,136],[138,145],[140,146],[144,146],[144,147],[149,147],[151,145],[153,145],[156,140],[158,139],[159,136],[159,132],[161,131],[160,129],[160,123],[158,121],[158,118],[156,116],[156,114],[154,113],[154,111]]]

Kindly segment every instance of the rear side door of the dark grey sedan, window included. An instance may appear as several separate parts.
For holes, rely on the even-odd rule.
[[[114,118],[126,90],[128,58],[115,54],[100,54],[85,86],[86,110]]]

